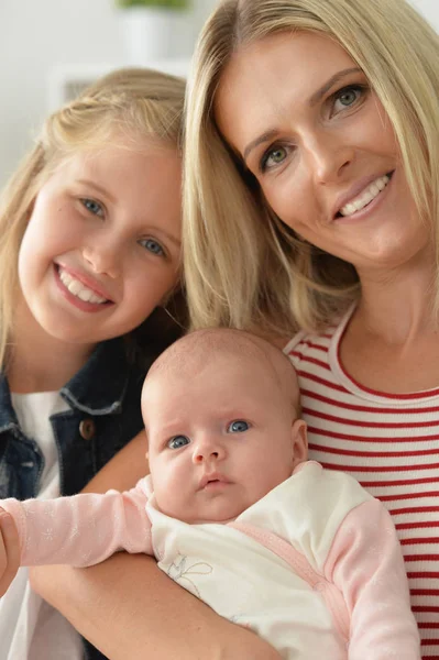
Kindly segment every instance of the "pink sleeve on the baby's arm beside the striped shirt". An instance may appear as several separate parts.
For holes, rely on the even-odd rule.
[[[380,502],[365,502],[344,518],[325,576],[342,592],[350,613],[349,660],[420,659],[403,553]]]

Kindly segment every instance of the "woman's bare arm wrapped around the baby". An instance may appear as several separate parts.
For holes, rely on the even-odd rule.
[[[86,490],[133,486],[146,471],[145,449],[140,433]],[[89,569],[32,569],[32,586],[111,660],[279,659],[265,641],[217,615],[143,554],[118,553]]]

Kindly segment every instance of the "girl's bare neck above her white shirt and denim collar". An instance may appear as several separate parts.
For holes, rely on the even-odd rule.
[[[8,355],[11,392],[59,389],[84,366],[94,349],[95,345],[67,343],[47,334],[29,308],[19,304]]]

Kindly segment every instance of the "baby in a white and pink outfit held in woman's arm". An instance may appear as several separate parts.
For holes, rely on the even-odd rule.
[[[287,660],[420,658],[389,515],[307,462],[281,351],[238,330],[188,334],[150,370],[142,413],[151,474],[132,491],[0,502],[23,565],[146,552]]]

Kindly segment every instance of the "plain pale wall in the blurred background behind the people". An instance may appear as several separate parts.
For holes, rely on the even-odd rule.
[[[194,35],[216,1],[193,0]],[[411,1],[439,30],[438,0]],[[108,63],[124,64],[113,0],[0,0],[0,186],[47,112],[51,68]]]

